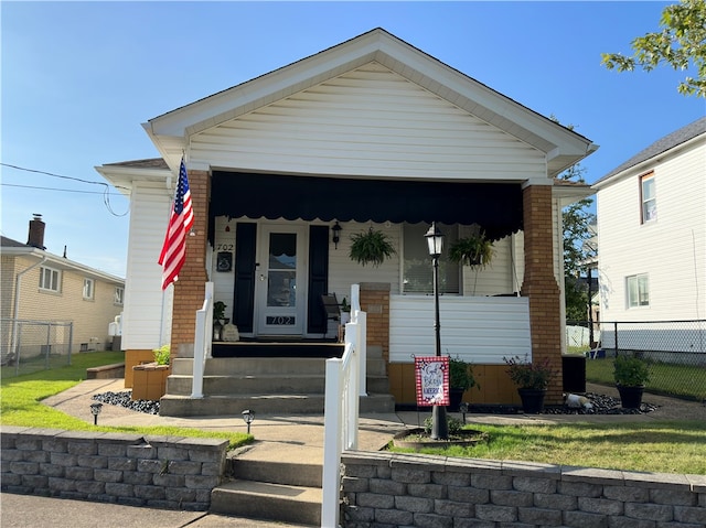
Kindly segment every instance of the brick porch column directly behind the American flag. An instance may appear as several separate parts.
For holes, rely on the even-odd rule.
[[[189,171],[189,190],[194,211],[193,236],[186,237],[186,261],[174,283],[172,306],[171,355],[179,356],[180,345],[193,346],[196,331],[196,310],[203,305],[206,274],[206,246],[208,231],[208,193],[211,177],[207,171]]]

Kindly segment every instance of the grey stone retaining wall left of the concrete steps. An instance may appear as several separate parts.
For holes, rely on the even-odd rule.
[[[3,492],[206,510],[221,484],[220,439],[0,428]]]

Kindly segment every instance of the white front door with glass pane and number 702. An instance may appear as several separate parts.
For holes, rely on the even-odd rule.
[[[256,292],[258,335],[303,334],[306,233],[303,226],[263,226]]]

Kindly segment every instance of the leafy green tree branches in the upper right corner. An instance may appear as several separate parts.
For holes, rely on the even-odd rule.
[[[662,11],[660,25],[662,31],[632,41],[632,56],[603,53],[601,64],[618,72],[632,72],[635,66],[650,72],[661,63],[675,71],[695,68],[697,77],[686,76],[677,90],[706,98],[706,1],[681,0],[667,6]]]

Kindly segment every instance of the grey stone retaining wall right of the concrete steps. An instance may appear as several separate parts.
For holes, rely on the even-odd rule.
[[[342,462],[346,528],[706,526],[706,475],[386,452]]]

